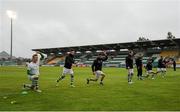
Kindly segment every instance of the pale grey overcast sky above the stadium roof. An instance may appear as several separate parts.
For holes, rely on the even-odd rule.
[[[0,52],[31,57],[32,48],[180,38],[180,0],[0,0]]]

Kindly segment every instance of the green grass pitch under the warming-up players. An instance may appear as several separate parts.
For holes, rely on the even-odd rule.
[[[22,95],[22,84],[30,83],[25,67],[0,67],[0,111],[3,110],[180,110],[180,69],[168,69],[163,79],[137,80],[128,85],[124,68],[104,68],[104,86],[99,82],[86,84],[91,68],[74,68],[75,88],[70,76],[55,87],[62,72],[60,67],[40,68],[42,93],[28,91]],[[7,98],[6,98],[7,97]],[[16,103],[11,104],[11,101]]]

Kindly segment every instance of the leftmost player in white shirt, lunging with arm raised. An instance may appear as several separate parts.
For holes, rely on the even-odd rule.
[[[39,64],[38,62],[38,55],[34,54],[32,56],[32,62],[28,64],[27,74],[32,84],[24,84],[24,88],[29,88],[35,90],[37,92],[41,92],[38,86],[38,79],[39,79]]]

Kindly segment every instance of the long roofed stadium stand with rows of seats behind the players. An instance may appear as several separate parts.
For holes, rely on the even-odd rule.
[[[157,64],[159,56],[175,58],[179,63],[180,58],[180,39],[163,39],[163,40],[146,40],[127,43],[113,43],[113,44],[100,44],[100,45],[86,45],[86,46],[70,46],[58,48],[44,48],[33,49],[33,51],[40,51],[51,56],[55,54],[51,60],[46,64],[63,65],[64,57],[70,49],[74,49],[78,53],[75,55],[76,63],[85,64],[90,66],[93,60],[97,57],[98,53],[103,50],[108,51],[108,60],[104,62],[108,67],[124,67],[125,57],[128,54],[128,49],[134,50],[136,54],[143,54],[143,64],[146,64],[147,59],[152,57],[154,65]],[[59,53],[62,55],[59,56]]]

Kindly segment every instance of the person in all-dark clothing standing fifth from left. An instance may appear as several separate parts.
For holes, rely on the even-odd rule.
[[[138,80],[143,80],[142,78],[142,56],[141,54],[138,55],[137,59],[136,59],[136,66],[137,66],[137,77]]]

